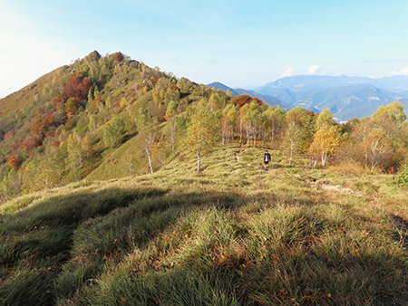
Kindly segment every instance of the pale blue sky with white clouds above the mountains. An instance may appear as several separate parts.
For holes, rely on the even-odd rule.
[[[121,51],[191,81],[408,75],[406,0],[0,0],[0,98]]]

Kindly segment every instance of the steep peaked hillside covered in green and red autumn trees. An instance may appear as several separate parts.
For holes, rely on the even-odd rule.
[[[184,114],[181,133],[185,110],[202,99],[219,108],[230,97],[120,52],[102,57],[94,51],[44,75],[0,100],[0,201],[87,177],[130,139],[126,146],[135,147],[126,165],[131,158],[132,166],[119,176],[146,173],[138,120],[159,125]],[[166,133],[159,131],[158,138]],[[169,156],[166,139],[155,144]],[[160,167],[160,160],[152,164]]]

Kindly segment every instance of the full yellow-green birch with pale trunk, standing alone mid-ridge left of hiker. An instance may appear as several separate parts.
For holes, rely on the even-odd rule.
[[[219,140],[219,118],[207,105],[199,103],[191,116],[183,147],[190,156],[197,156],[197,174],[201,156]]]

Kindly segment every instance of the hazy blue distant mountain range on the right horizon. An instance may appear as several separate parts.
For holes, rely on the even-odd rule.
[[[319,112],[328,108],[338,121],[371,116],[379,106],[393,100],[405,105],[408,102],[408,76],[402,75],[381,79],[296,75],[268,82],[253,91],[230,89],[219,82],[208,86],[229,90],[234,95],[248,94],[283,109],[303,106]]]

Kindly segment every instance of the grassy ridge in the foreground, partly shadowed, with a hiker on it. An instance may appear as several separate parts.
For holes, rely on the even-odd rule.
[[[219,147],[0,206],[2,305],[403,305],[406,189]],[[331,186],[332,188],[326,188]],[[395,226],[395,218],[400,223]]]

